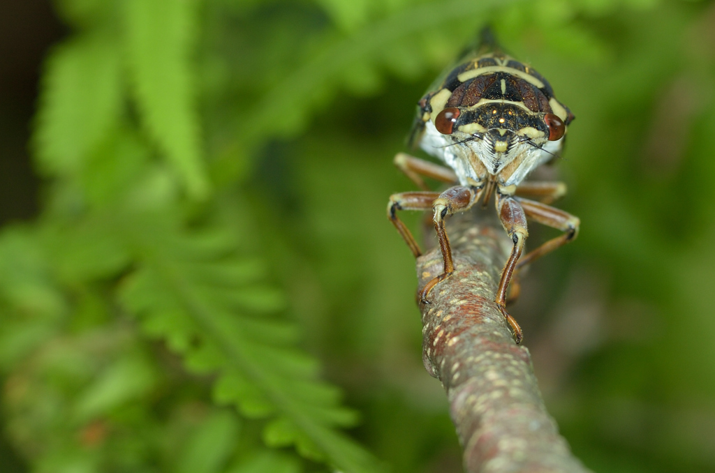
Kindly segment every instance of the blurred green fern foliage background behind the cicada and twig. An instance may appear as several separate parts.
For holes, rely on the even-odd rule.
[[[540,175],[581,234],[511,309],[551,414],[598,472],[715,472],[712,2],[0,19],[3,472],[460,472],[385,204],[414,189],[391,159],[416,101],[485,23],[576,114]]]

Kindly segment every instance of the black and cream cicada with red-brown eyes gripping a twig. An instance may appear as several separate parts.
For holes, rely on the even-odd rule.
[[[433,164],[408,154],[395,156],[395,164],[422,191],[390,196],[388,219],[402,235],[415,257],[421,253],[398,210],[433,211],[433,221],[444,260],[443,273],[420,292],[429,304],[430,291],[454,272],[445,218],[465,211],[479,201],[486,206],[495,194],[496,211],[513,241],[501,273],[495,303],[514,332],[521,327],[506,310],[509,282],[521,267],[571,242],[578,234],[576,216],[549,206],[566,193],[562,182],[526,181],[526,176],[561,152],[571,111],[553,94],[537,71],[505,54],[489,29],[481,44],[448,69],[418,103],[410,144],[443,161]],[[430,191],[421,176],[458,184],[443,192]],[[531,196],[537,200],[526,199]],[[563,231],[522,257],[528,237],[527,219]]]

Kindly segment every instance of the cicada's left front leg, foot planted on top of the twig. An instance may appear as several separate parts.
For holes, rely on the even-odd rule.
[[[483,187],[465,187],[465,186],[455,186],[444,191],[438,199],[432,204],[432,209],[434,212],[433,221],[435,222],[435,230],[437,231],[437,237],[440,242],[440,249],[442,250],[442,258],[444,260],[444,269],[442,274],[435,277],[430,282],[425,284],[422,291],[420,292],[420,302],[423,304],[429,304],[427,296],[430,291],[439,282],[444,281],[452,275],[454,272],[454,262],[452,261],[452,248],[449,244],[449,237],[445,231],[445,218],[448,215],[455,214],[458,211],[465,211],[469,209],[475,201],[478,201],[483,192]]]

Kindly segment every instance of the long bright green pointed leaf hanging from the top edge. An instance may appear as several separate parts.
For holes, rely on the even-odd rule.
[[[195,7],[192,0],[128,0],[124,25],[142,123],[189,194],[202,197],[209,184],[190,57],[198,28]]]

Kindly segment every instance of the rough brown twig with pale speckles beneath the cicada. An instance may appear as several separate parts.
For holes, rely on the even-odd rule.
[[[423,362],[447,392],[468,473],[585,473],[546,412],[531,355],[494,301],[511,239],[475,213],[453,217],[454,274],[422,310]],[[442,272],[439,249],[420,257],[420,287]],[[528,334],[526,334],[528,337]]]

